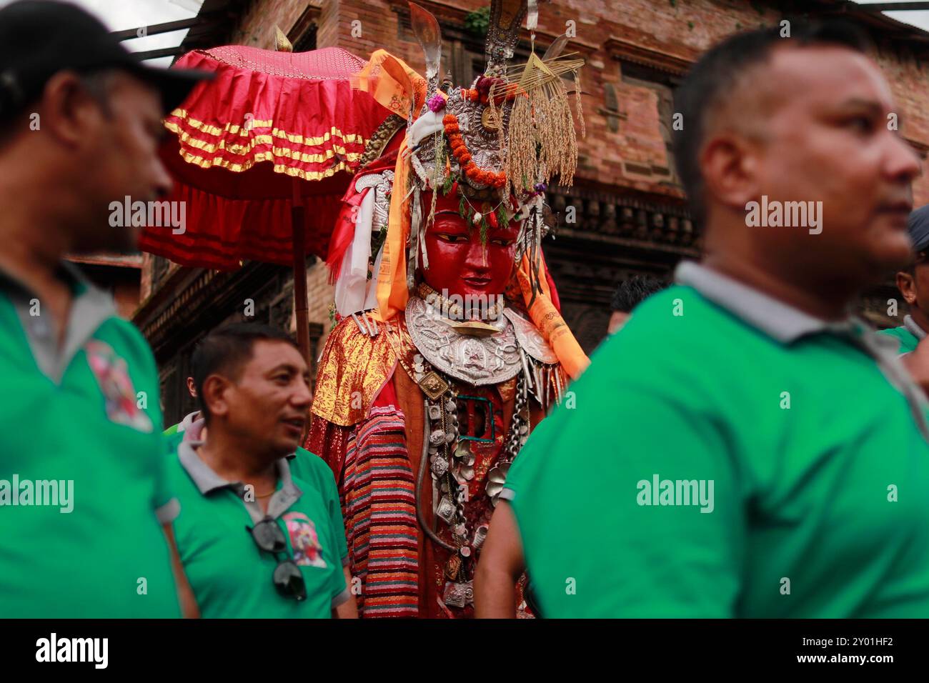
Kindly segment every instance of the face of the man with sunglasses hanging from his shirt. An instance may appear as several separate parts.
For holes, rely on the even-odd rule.
[[[312,400],[307,362],[290,344],[256,341],[252,358],[223,398],[228,408],[224,425],[229,432],[265,453],[278,457],[294,453]]]

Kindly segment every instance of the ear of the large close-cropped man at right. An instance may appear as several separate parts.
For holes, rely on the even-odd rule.
[[[700,152],[700,170],[706,193],[738,211],[756,200],[758,146],[733,132],[713,135]]]

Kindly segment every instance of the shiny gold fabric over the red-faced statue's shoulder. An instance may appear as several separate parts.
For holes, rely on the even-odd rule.
[[[343,427],[358,424],[397,362],[383,328],[362,335],[351,318],[339,322],[322,351],[312,412]]]

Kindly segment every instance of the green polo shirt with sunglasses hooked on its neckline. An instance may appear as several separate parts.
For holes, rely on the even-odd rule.
[[[185,432],[186,433],[186,432]],[[240,483],[221,479],[194,450],[187,434],[169,456],[169,479],[181,501],[174,523],[177,551],[204,618],[328,619],[350,598],[343,566],[348,561],[335,479],[316,456],[298,450],[301,472],[278,461],[278,490],[267,514],[287,540],[287,554],[300,568],[307,599],[281,596],[272,580],[279,559],[255,545],[246,527],[264,514],[246,502]],[[294,468],[295,470],[295,468]]]

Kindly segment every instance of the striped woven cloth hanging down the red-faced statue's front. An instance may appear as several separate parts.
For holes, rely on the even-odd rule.
[[[360,616],[416,617],[416,480],[406,453],[403,413],[373,408],[348,439],[343,509]]]

